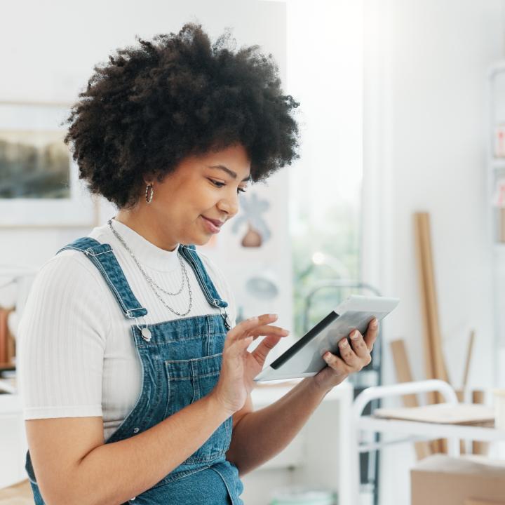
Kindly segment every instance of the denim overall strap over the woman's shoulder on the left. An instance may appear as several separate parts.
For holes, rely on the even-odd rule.
[[[137,298],[135,298],[109,244],[102,244],[94,238],[82,237],[65,245],[58,253],[65,249],[81,251],[93,262],[114,293],[121,311],[123,311],[123,314],[127,318],[133,319],[147,315],[147,309],[142,307]]]

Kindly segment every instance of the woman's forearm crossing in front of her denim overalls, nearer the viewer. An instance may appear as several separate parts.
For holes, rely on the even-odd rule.
[[[69,476],[65,505],[115,505],[158,483],[193,454],[230,413],[212,395],[138,435],[100,445]]]

